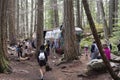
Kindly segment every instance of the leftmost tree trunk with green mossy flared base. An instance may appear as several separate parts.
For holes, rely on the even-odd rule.
[[[8,59],[7,59],[7,46],[6,46],[6,26],[7,17],[6,9],[8,0],[0,0],[0,73],[10,71]]]

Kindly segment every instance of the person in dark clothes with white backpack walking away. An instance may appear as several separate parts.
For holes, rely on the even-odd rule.
[[[41,45],[40,46],[40,51],[38,52],[38,55],[37,55],[37,61],[38,61],[39,66],[40,66],[39,71],[40,71],[40,74],[41,74],[41,80],[43,80],[46,63],[48,61],[47,53],[44,51],[44,48],[45,48],[44,45]]]

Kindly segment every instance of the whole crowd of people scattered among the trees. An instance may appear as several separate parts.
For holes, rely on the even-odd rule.
[[[58,47],[57,41],[50,42],[49,40],[46,40],[45,43],[43,43],[40,46],[39,51],[37,52],[37,61],[40,66],[40,74],[41,74],[41,80],[44,78],[44,73],[46,71],[52,70],[52,68],[49,66],[48,62],[48,56],[50,55],[50,52],[52,51],[53,54],[56,53],[55,49]],[[16,46],[16,52],[19,59],[27,60],[30,59],[29,54],[33,50],[33,48],[36,48],[35,45],[33,45],[32,41],[25,39],[23,41],[19,41]],[[112,45],[108,40],[105,40],[102,44],[103,52],[108,60],[111,59],[111,50]],[[118,52],[120,52],[120,41],[117,44]],[[88,45],[84,46],[84,53],[85,56],[88,58],[90,55],[90,60],[93,59],[101,59],[99,49],[97,47],[97,44],[95,41],[93,41],[90,49]],[[89,54],[90,53],[90,54]],[[52,55],[55,56],[55,55]]]

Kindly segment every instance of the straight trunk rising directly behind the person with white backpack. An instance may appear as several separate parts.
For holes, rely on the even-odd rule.
[[[43,0],[38,0],[38,14],[37,14],[37,52],[39,51],[40,45],[43,44],[43,16],[44,7]]]

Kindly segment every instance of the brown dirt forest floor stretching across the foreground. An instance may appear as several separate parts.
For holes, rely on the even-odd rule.
[[[17,61],[17,56],[9,55],[10,66],[13,72],[0,74],[0,80],[40,80],[39,66],[34,57],[30,60]],[[80,60],[56,66],[59,58],[49,57],[52,71],[45,73],[45,80],[112,80],[109,73],[85,75],[87,63],[90,59],[82,55]]]

